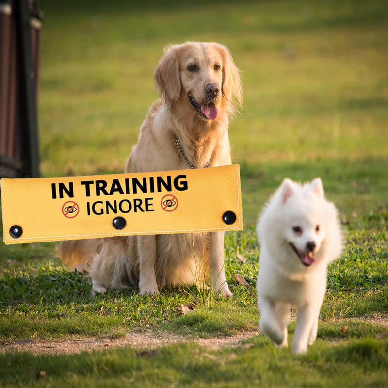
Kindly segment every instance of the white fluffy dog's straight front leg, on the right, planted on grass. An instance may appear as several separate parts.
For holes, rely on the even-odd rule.
[[[314,323],[316,321],[315,308],[307,304],[298,308],[296,318],[295,335],[292,341],[292,353],[306,353],[310,334],[313,333]]]

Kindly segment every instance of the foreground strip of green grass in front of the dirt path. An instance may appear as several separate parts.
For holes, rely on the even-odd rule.
[[[387,383],[386,341],[348,338],[335,344],[318,339],[308,355],[293,358],[287,350],[270,348],[262,336],[249,343],[253,346],[232,351],[185,344],[145,354],[130,348],[72,356],[6,354],[0,355],[0,370],[12,386],[32,387],[384,387]],[[15,370],[24,373],[13,375]],[[38,378],[41,371],[45,379]]]

